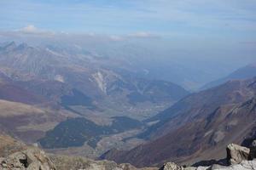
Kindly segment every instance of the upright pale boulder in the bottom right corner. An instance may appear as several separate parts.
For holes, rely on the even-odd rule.
[[[231,165],[241,163],[243,160],[249,160],[250,149],[237,144],[228,144],[227,159]]]

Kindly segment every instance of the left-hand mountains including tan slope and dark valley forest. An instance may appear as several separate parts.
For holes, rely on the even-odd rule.
[[[120,148],[141,143],[131,138],[146,126],[141,121],[189,92],[173,82],[137,77],[119,62],[125,61],[84,51],[3,43],[1,130],[51,151],[61,148],[84,154],[81,150],[89,148],[93,157],[113,147],[108,143],[111,136],[121,136],[114,144]],[[69,151],[70,147],[76,151]]]

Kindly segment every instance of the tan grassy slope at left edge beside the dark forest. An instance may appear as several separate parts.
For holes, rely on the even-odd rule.
[[[67,111],[51,110],[0,99],[0,132],[34,143],[56,124],[72,116]]]

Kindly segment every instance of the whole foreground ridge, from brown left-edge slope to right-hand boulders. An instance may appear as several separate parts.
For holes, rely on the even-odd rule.
[[[93,161],[81,156],[58,156],[46,154],[35,146],[28,146],[8,135],[0,135],[0,169],[3,170],[246,170],[255,169],[256,141],[250,148],[236,144],[227,146],[224,161],[210,163],[207,166],[185,167],[167,162],[158,167],[133,167],[131,164],[117,164],[114,161]]]

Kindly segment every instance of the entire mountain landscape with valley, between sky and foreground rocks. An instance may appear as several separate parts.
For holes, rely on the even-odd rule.
[[[219,159],[227,144],[255,139],[255,65],[192,94],[142,68],[89,50],[3,43],[0,131],[49,153],[137,167]]]

